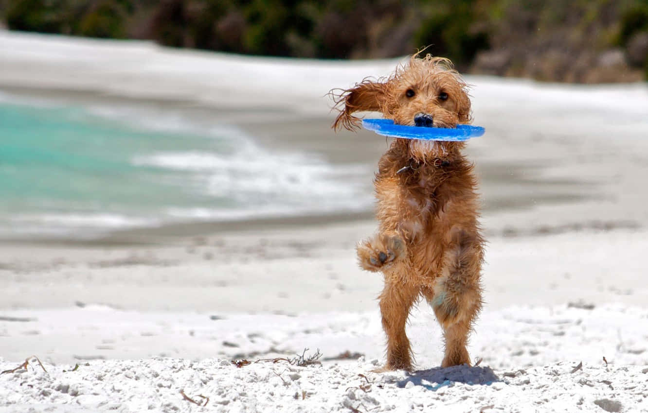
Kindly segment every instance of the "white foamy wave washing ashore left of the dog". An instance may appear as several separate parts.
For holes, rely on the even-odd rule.
[[[133,164],[187,173],[186,187],[196,194],[229,203],[216,208],[175,208],[172,216],[209,219],[250,218],[324,210],[369,208],[365,166],[332,165],[305,153],[268,153],[247,142],[235,153],[196,151],[154,153]],[[179,210],[193,211],[178,214]],[[200,211],[196,213],[196,211]],[[208,211],[208,212],[206,212]]]

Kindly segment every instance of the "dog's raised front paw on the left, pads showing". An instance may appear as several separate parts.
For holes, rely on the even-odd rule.
[[[360,267],[367,271],[381,271],[397,261],[405,250],[405,243],[396,234],[380,234],[358,244]]]

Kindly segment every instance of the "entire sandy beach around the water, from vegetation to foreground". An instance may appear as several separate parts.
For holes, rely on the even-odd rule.
[[[0,370],[30,362],[0,375],[0,410],[646,411],[646,84],[467,77],[486,128],[467,150],[488,241],[469,346],[481,361],[441,371],[441,330],[421,303],[408,326],[420,371],[371,372],[384,361],[382,278],[354,247],[375,231],[371,180],[389,142],[334,133],[325,95],[397,63],[0,31],[3,102],[92,107],[146,130],[225,126],[260,159],[237,177],[308,172],[281,187],[293,203],[266,210],[3,231]],[[253,363],[317,350],[321,364]]]

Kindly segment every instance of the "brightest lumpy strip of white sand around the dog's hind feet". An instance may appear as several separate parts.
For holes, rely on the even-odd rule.
[[[483,358],[480,366],[446,369],[434,368],[441,360],[439,329],[434,316],[423,309],[409,327],[419,366],[424,368],[415,374],[371,371],[380,364],[381,333],[375,312],[231,315],[217,320],[207,315],[142,315],[105,307],[11,314],[38,321],[14,322],[19,327],[7,331],[10,337],[14,329],[24,333],[36,328],[43,330],[47,341],[59,337],[65,342],[64,351],[76,350],[77,340],[71,337],[96,343],[104,337],[98,349],[165,349],[165,355],[173,358],[85,361],[76,356],[69,363],[45,363],[47,372],[30,359],[27,369],[0,375],[0,400],[6,411],[47,407],[57,412],[648,409],[648,368],[643,367],[648,311],[636,307],[485,311],[471,345],[473,357]],[[316,346],[323,357],[345,351],[364,356],[358,361],[323,360],[321,365],[305,367],[284,360],[240,368],[231,363],[286,354],[291,359],[295,353],[301,355],[304,346],[312,349],[305,352],[307,357],[316,352]],[[218,349],[218,358],[189,357],[207,349]],[[128,357],[128,351],[123,356]],[[75,362],[78,368],[70,371]],[[3,370],[17,364],[0,359]],[[582,368],[573,371],[579,365]],[[199,403],[209,397],[209,402],[198,407],[183,399],[181,391]]]

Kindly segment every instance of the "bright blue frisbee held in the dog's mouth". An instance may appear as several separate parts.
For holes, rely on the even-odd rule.
[[[480,137],[484,128],[457,125],[456,128],[428,128],[424,126],[395,125],[391,119],[363,119],[362,127],[378,135],[406,139],[463,141]]]

